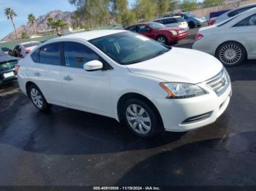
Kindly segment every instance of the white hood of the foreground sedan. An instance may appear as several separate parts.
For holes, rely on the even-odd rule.
[[[222,70],[217,58],[197,50],[173,47],[156,58],[127,65],[129,71],[162,79],[165,82],[199,83]]]

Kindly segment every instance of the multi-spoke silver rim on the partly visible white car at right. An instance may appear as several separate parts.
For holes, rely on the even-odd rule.
[[[227,44],[219,51],[219,59],[222,63],[231,65],[240,61],[242,50],[235,44]]]

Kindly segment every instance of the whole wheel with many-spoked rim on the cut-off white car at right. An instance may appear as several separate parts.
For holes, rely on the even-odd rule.
[[[224,66],[238,66],[246,59],[246,50],[238,42],[225,42],[217,49],[216,56]]]

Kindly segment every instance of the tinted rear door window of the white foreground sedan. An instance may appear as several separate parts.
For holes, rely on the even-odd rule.
[[[59,65],[60,61],[60,44],[47,44],[40,48],[39,63],[48,63]]]

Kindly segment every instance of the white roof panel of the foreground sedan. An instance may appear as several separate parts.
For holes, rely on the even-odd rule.
[[[86,41],[89,41],[91,39],[97,39],[99,37],[108,36],[110,34],[118,34],[124,31],[125,30],[117,30],[117,29],[93,30],[93,31],[86,31],[86,32],[80,32],[75,34],[68,34],[66,36],[59,37],[59,39],[75,38],[75,39],[84,39]]]

